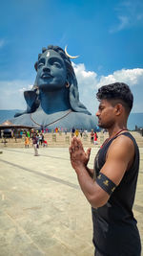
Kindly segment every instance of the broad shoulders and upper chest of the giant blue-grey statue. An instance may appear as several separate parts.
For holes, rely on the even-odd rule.
[[[55,126],[63,128],[84,128],[91,130],[97,125],[95,116],[81,112],[61,111],[46,114],[42,109],[37,109],[33,113],[26,113],[12,118],[10,122],[14,125],[24,125],[37,127],[48,127],[53,129]]]

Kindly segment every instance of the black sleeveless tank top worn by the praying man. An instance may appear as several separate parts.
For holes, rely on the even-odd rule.
[[[124,132],[120,135],[127,136],[133,141],[135,151],[133,166],[125,173],[108,202],[97,209],[92,208],[93,244],[101,255],[139,256],[141,255],[140,237],[133,217],[139,151],[131,133]],[[116,137],[98,151],[94,161],[96,176],[105,164],[106,153]]]

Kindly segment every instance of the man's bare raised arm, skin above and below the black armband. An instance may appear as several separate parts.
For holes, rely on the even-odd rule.
[[[80,161],[80,148],[78,148],[78,139],[73,138],[70,148],[72,167],[75,170],[80,187],[89,200],[93,208],[103,206],[110,195],[92,180],[87,172],[86,166]],[[133,160],[134,147],[130,138],[119,136],[116,138],[107,154],[107,160],[100,173],[106,175],[111,181],[118,185]]]

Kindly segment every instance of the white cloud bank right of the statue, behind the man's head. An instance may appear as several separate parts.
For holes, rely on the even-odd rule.
[[[87,106],[92,114],[95,113],[98,106],[95,96],[97,89],[102,85],[116,81],[125,82],[134,88],[133,94],[135,93],[135,96],[133,111],[143,111],[142,99],[139,99],[139,96],[143,95],[143,69],[121,69],[114,71],[108,76],[99,77],[95,72],[87,71],[83,63],[78,65],[73,63],[73,67],[78,81],[80,101]]]

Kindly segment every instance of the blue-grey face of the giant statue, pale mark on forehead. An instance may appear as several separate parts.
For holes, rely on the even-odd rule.
[[[53,50],[42,54],[37,63],[36,83],[39,89],[54,90],[65,86],[67,78],[66,65],[63,58]]]

